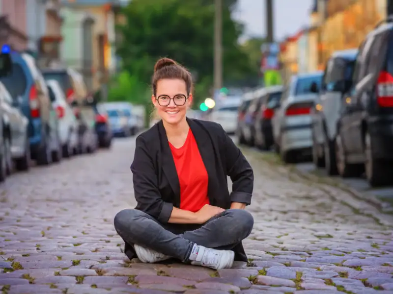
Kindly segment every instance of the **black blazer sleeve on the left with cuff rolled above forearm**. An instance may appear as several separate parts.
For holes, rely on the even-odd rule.
[[[153,159],[143,137],[138,136],[134,160],[131,164],[134,194],[137,207],[161,223],[167,223],[172,213],[172,203],[164,202],[158,189],[158,176]]]

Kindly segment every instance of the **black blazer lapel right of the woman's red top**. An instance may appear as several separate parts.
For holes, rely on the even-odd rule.
[[[213,141],[210,139],[209,133],[206,129],[204,129],[201,125],[196,123],[195,121],[187,118],[188,125],[193,132],[195,137],[195,141],[197,142],[197,146],[199,149],[200,157],[202,157],[203,164],[205,165],[206,172],[209,177],[207,194],[210,200],[210,203],[214,205],[214,196],[216,193],[216,169],[215,169],[215,151]]]

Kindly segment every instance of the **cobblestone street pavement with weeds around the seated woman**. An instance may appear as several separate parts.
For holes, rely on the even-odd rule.
[[[119,140],[112,151],[15,174],[0,186],[3,293],[393,293],[391,218],[356,200],[351,208],[345,192],[264,163],[252,150],[247,264],[214,271],[131,263],[112,219],[135,205],[133,146]]]

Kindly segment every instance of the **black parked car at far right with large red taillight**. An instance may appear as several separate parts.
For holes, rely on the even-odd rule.
[[[343,98],[336,136],[338,173],[371,186],[393,183],[393,19],[378,25],[359,47],[353,83]]]

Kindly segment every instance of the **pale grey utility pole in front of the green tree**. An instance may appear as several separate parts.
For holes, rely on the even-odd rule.
[[[215,0],[214,19],[214,90],[223,87],[223,0]]]

